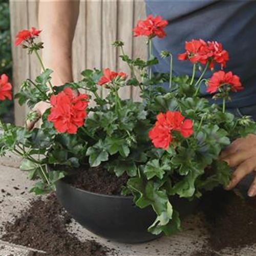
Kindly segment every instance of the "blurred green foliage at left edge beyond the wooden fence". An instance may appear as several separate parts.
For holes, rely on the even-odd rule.
[[[0,74],[3,73],[12,77],[9,0],[0,0]],[[12,106],[12,101],[1,101],[0,114],[7,114],[12,109]]]

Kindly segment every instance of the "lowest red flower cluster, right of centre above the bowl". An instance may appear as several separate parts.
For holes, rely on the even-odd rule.
[[[173,140],[172,131],[178,131],[183,137],[193,134],[193,122],[185,119],[179,111],[167,111],[157,115],[153,129],[148,133],[155,147],[165,150]]]

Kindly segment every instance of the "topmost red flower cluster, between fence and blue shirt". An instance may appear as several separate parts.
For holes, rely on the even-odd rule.
[[[152,14],[148,15],[145,20],[139,20],[136,27],[133,29],[134,36],[148,36],[160,38],[165,37],[166,33],[163,30],[167,26],[167,20],[163,19],[161,16],[154,17]]]

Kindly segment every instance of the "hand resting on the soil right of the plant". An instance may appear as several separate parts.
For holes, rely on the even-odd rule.
[[[221,153],[220,160],[236,167],[227,190],[234,188],[246,175],[256,170],[256,135],[249,134],[232,142]],[[248,190],[248,196],[256,195],[256,176]]]

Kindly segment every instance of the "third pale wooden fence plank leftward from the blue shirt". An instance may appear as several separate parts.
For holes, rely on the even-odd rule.
[[[117,0],[102,1],[102,68],[117,69],[117,49],[112,43],[117,40]],[[102,89],[102,96],[108,89]]]

